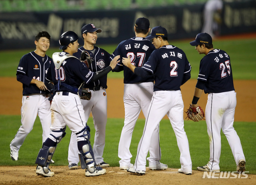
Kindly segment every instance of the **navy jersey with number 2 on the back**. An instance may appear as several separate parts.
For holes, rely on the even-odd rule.
[[[186,54],[172,45],[153,51],[143,69],[154,74],[154,91],[180,90],[183,76],[191,72]]]

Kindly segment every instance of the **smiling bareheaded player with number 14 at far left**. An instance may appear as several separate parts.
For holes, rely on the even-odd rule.
[[[17,68],[17,80],[22,83],[21,126],[11,141],[11,158],[18,160],[18,151],[26,136],[33,129],[37,114],[43,128],[43,142],[50,134],[51,113],[46,85],[46,73],[52,58],[46,55],[50,46],[50,35],[39,32],[34,41],[36,50],[24,55]],[[53,161],[52,161],[53,162]]]

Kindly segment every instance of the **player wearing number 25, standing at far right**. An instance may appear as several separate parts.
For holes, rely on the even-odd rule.
[[[206,166],[197,169],[220,172],[220,129],[222,129],[234,155],[237,171],[244,172],[245,156],[239,136],[233,127],[236,92],[230,57],[225,51],[213,48],[212,37],[208,33],[197,34],[196,40],[190,44],[196,46],[195,49],[199,54],[206,55],[200,62],[192,107],[198,106],[197,101],[204,90],[204,93],[208,94],[205,117],[210,140],[210,161]]]

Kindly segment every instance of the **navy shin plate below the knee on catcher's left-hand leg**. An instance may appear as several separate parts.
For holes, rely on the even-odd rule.
[[[36,164],[48,168],[56,147],[57,144],[50,147],[43,144],[43,147],[38,152]]]

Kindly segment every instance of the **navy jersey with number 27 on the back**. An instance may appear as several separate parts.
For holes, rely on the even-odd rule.
[[[141,68],[143,64],[148,60],[151,53],[155,50],[155,46],[142,37],[133,37],[128,40],[122,41],[114,50],[111,59],[117,55],[120,55],[120,62],[117,65],[122,65],[122,58],[130,56],[131,63],[135,67]],[[123,66],[124,71],[124,83],[133,84],[139,82],[154,82],[154,77],[151,75],[147,78],[139,77],[134,74],[128,67]]]

